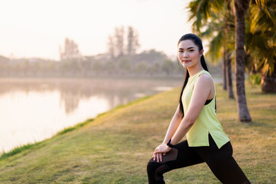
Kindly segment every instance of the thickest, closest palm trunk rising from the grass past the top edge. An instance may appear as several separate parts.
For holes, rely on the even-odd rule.
[[[249,0],[235,0],[235,81],[237,92],[237,111],[239,121],[251,121],[246,104],[244,88],[244,64],[245,64],[245,21],[244,15],[249,7]]]

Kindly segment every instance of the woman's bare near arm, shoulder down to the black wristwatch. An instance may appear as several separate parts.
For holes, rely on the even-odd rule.
[[[185,117],[181,121],[175,134],[172,136],[172,140],[170,141],[172,145],[177,144],[188,130],[190,130],[190,127],[193,126],[212,89],[213,79],[208,76],[208,74],[201,74],[195,82],[193,94],[190,99],[188,110],[185,113]]]

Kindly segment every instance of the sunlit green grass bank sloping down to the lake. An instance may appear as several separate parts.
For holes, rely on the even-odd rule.
[[[247,85],[253,122],[217,88],[217,116],[251,183],[276,181],[276,95]],[[1,157],[0,183],[147,183],[146,164],[164,139],[180,88],[147,96]],[[8,153],[7,153],[8,154]],[[219,183],[205,163],[164,174],[166,183]]]

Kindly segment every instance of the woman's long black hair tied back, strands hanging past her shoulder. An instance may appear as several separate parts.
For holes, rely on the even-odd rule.
[[[202,41],[201,41],[201,39],[200,39],[199,37],[197,37],[197,35],[191,34],[191,33],[189,33],[189,34],[184,34],[184,35],[179,39],[179,41],[178,41],[178,43],[177,43],[177,46],[179,45],[179,43],[180,43],[181,41],[184,41],[184,40],[191,40],[191,41],[193,41],[193,43],[195,43],[195,45],[198,46],[199,52],[200,52],[201,50],[203,50]],[[201,65],[202,65],[202,67],[204,68],[204,70],[208,71],[208,68],[207,68],[207,65],[206,65],[206,62],[205,62],[205,59],[204,59],[203,54],[202,54],[202,56],[200,57],[200,63],[201,63]],[[185,78],[184,78],[184,84],[183,84],[183,87],[182,87],[182,90],[181,90],[181,93],[180,93],[180,96],[179,96],[179,112],[180,112],[182,118],[184,117],[184,108],[183,108],[183,103],[182,103],[182,98],[181,98],[181,97],[182,97],[184,88],[186,87],[186,85],[187,85],[187,83],[188,83],[188,79],[189,79],[189,77],[190,77],[190,74],[189,74],[187,68],[186,68],[186,72],[185,72],[185,73],[186,73],[186,74],[185,74]],[[215,105],[215,110],[216,110],[216,109],[217,109],[217,107],[216,107],[216,105]]]

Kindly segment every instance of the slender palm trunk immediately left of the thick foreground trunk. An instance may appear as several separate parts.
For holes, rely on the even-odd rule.
[[[227,83],[228,98],[234,99],[233,85],[232,85],[231,58],[230,58],[229,50],[226,50],[225,54],[226,54],[226,83]]]

